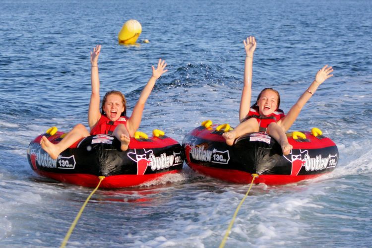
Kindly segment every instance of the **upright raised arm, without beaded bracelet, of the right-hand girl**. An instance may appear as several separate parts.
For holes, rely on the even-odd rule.
[[[246,50],[246,61],[244,66],[244,85],[239,108],[240,121],[247,117],[250,109],[250,99],[252,95],[252,64],[254,50],[256,49],[256,40],[254,39],[254,36],[249,36],[247,41],[244,40],[243,43]]]

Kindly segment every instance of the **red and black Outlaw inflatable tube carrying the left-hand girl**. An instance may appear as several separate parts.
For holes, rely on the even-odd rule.
[[[52,143],[62,140],[63,132],[49,132],[36,137],[28,146],[27,158],[39,175],[79,186],[97,186],[99,176],[105,176],[100,187],[137,186],[163,175],[182,170],[182,146],[174,139],[154,131],[154,136],[136,135],[127,151],[120,149],[114,136],[88,136],[52,159],[39,144],[43,135]],[[62,136],[62,137],[61,137]]]

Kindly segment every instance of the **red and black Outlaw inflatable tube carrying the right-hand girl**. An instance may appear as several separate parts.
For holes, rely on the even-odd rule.
[[[287,133],[293,145],[287,156],[274,138],[262,132],[241,136],[228,146],[222,133],[230,129],[229,125],[206,121],[186,134],[183,146],[187,165],[223,181],[248,184],[251,174],[258,174],[256,184],[281,185],[329,173],[338,162],[337,146],[317,128],[312,132]]]

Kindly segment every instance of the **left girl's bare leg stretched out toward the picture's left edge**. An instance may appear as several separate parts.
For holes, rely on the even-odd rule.
[[[75,125],[71,131],[57,144],[53,144],[47,137],[43,136],[40,140],[41,148],[46,151],[52,159],[57,159],[58,155],[70,145],[81,138],[89,136],[90,133],[83,124]]]

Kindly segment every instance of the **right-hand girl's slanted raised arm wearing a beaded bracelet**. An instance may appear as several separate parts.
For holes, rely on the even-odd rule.
[[[302,108],[315,93],[319,85],[322,84],[326,79],[333,76],[333,74],[330,74],[332,71],[332,66],[328,67],[328,64],[324,65],[323,68],[318,70],[315,75],[315,80],[310,84],[309,88],[302,94],[299,100],[297,100],[295,105],[293,105],[293,107],[289,110],[288,114],[283,119],[278,121],[278,124],[284,129],[284,131],[287,131],[296,121]]]

